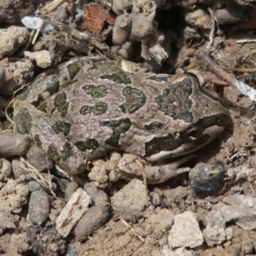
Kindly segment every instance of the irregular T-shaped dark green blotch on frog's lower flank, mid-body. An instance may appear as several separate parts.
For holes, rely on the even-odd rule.
[[[100,121],[100,125],[108,126],[113,130],[113,134],[105,143],[113,148],[120,148],[119,138],[122,133],[128,131],[131,127],[131,120],[128,118],[113,120],[113,121]]]

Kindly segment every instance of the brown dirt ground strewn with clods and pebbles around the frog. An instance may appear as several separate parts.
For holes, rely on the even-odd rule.
[[[204,49],[223,70],[255,87],[255,73],[246,69],[256,72],[256,1],[70,0],[49,15],[44,10],[41,17],[55,28],[44,25],[32,44],[38,26],[32,16],[49,2],[0,3],[1,255],[256,255],[255,103],[195,59]],[[135,61],[154,73],[192,69],[218,92],[230,124],[184,165],[222,164],[222,175],[197,187],[212,195],[197,196],[189,173],[147,189],[138,179],[102,185],[84,174],[71,180],[39,149],[29,149],[28,137],[13,133],[4,109],[14,91],[84,55]],[[25,170],[24,159],[42,170]]]

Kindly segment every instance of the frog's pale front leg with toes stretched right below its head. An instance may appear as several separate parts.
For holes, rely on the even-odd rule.
[[[196,157],[196,154],[188,154],[172,163],[166,163],[165,160],[161,160],[160,162],[157,162],[157,165],[152,165],[151,162],[148,162],[137,155],[124,154],[119,160],[116,172],[117,176],[123,179],[130,180],[134,177],[142,178],[145,174],[147,183],[164,183],[169,178],[176,177],[180,173],[190,172],[189,167],[177,167],[194,157]],[[139,164],[138,161],[141,164]]]

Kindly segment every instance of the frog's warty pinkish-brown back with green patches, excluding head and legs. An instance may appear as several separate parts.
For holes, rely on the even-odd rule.
[[[143,155],[143,141],[156,134],[156,127],[151,126],[157,126],[156,122],[171,125],[170,117],[159,113],[154,102],[164,84],[171,84],[171,76],[157,79],[154,74],[125,73],[102,64],[82,70],[75,79],[48,99],[46,109],[56,126],[70,127],[67,137],[87,159],[113,149]],[[166,133],[165,129],[161,132]]]

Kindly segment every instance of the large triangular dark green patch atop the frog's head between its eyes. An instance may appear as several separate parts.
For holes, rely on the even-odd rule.
[[[191,79],[185,78],[170,85],[163,90],[162,95],[155,97],[158,109],[170,115],[173,119],[183,119],[187,123],[193,122],[193,115],[189,112],[192,101],[189,96],[192,94]]]

